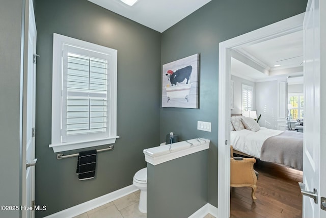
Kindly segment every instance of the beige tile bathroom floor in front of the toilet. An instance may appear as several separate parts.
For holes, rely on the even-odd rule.
[[[139,196],[138,190],[74,218],[146,218],[146,214],[138,210]],[[215,216],[207,214],[204,218],[215,218]]]

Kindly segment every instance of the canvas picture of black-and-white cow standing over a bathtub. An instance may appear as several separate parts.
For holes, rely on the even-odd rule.
[[[199,54],[162,66],[162,107],[198,108]]]

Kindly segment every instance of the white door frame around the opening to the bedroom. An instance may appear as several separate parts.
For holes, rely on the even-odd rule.
[[[244,45],[302,30],[304,13],[220,43],[219,50],[219,168],[218,217],[230,217],[230,80],[231,51]]]

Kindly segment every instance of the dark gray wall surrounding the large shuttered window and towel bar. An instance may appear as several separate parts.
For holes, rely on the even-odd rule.
[[[41,56],[36,78],[36,204],[47,206],[36,211],[36,217],[43,217],[131,185],[135,172],[146,166],[143,150],[159,145],[161,35],[86,0],[36,0],[35,8]],[[114,151],[98,153],[91,180],[78,180],[76,157],[57,160],[48,147],[53,32],[118,50],[120,138]]]

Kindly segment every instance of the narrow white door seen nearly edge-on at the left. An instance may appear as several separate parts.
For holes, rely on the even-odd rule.
[[[22,166],[22,210],[23,217],[34,217],[33,201],[35,200],[35,72],[36,63],[36,25],[33,1],[29,3],[28,15],[28,49],[24,54],[23,82],[23,166]],[[26,43],[26,41],[25,41]],[[26,46],[25,46],[26,47]],[[27,57],[25,57],[27,55]],[[31,210],[32,207],[33,209]]]

